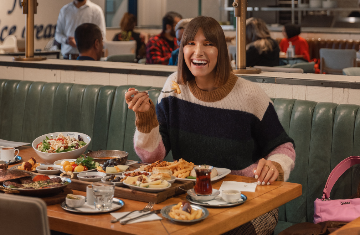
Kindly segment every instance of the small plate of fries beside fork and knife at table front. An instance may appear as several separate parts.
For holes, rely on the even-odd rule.
[[[209,215],[209,211],[206,208],[190,203],[191,211],[190,213],[186,212],[183,210],[182,204],[182,202],[179,202],[178,204],[163,207],[161,209],[162,216],[175,222],[195,223],[204,220]]]

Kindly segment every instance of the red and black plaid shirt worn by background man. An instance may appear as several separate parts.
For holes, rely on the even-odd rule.
[[[167,65],[171,57],[171,52],[177,49],[176,38],[174,38],[174,48],[171,48],[162,32],[159,35],[150,37],[146,44],[146,63]]]

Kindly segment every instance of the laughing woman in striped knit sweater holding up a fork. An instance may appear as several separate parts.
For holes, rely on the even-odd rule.
[[[172,81],[180,84],[181,94],[161,93],[156,107],[147,93],[129,88],[125,94],[129,109],[135,111],[134,147],[143,161],[162,161],[172,150],[175,160],[229,168],[231,174],[255,176],[258,185],[289,178],[295,160],[293,140],[264,91],[233,74],[225,35],[215,19],[198,16],[190,21],[177,72],[163,90],[171,90]],[[226,234],[270,235],[278,211]]]

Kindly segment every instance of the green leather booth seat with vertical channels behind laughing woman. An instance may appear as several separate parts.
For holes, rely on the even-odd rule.
[[[91,137],[91,150],[124,150],[129,159],[138,160],[132,138],[135,115],[124,100],[129,87],[134,86],[0,80],[0,139],[31,143],[42,134],[76,131]],[[159,92],[149,95],[155,101]],[[348,156],[360,154],[360,106],[284,98],[273,101],[296,144],[295,168],[288,181],[302,185],[302,195],[279,208],[277,234],[294,223],[312,222],[314,200],[321,197],[331,170]],[[166,159],[172,159],[171,152]],[[355,165],[343,174],[331,199],[356,193],[358,168]]]

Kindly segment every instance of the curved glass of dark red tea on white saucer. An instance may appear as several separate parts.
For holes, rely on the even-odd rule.
[[[194,186],[194,191],[196,194],[201,195],[211,195],[211,170],[212,166],[209,165],[198,165],[195,166],[196,173],[196,183]]]

